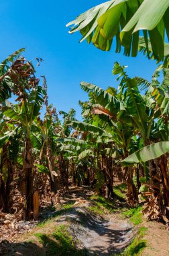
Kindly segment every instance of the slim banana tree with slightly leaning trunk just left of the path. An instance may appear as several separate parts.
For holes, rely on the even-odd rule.
[[[39,154],[39,156],[36,156],[35,165],[39,170],[44,166],[48,168],[53,205],[58,203],[58,174],[56,172],[55,156],[56,148],[58,147],[56,139],[60,137],[61,129],[56,109],[52,105],[48,106],[46,102],[44,121],[38,118],[34,122],[34,132],[31,135],[31,139],[34,148],[38,149]]]

